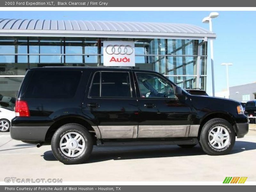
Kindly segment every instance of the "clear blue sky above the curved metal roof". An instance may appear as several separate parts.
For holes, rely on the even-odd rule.
[[[202,19],[208,11],[1,11],[0,18],[46,20],[111,20],[187,23],[208,29]],[[229,85],[256,82],[256,25],[255,11],[220,11],[212,20],[215,92],[227,89],[226,66],[229,66]],[[212,95],[210,44],[208,44],[206,92]]]

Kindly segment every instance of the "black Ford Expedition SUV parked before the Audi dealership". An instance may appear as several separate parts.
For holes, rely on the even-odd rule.
[[[224,155],[248,132],[239,102],[191,95],[159,73],[124,68],[30,69],[15,112],[12,138],[51,143],[64,164],[83,163],[93,145],[199,143]]]

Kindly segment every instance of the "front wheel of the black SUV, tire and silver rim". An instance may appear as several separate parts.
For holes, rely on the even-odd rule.
[[[226,155],[236,141],[233,126],[226,120],[214,118],[206,122],[200,133],[200,146],[208,155]]]

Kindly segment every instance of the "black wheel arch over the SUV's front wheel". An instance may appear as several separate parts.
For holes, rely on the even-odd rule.
[[[200,139],[200,133],[202,131],[204,124],[214,118],[224,119],[224,120],[228,121],[232,126],[235,125],[235,119],[233,118],[233,116],[231,114],[228,114],[225,112],[215,112],[215,113],[208,114],[207,116],[204,116],[204,118],[202,118],[202,120],[200,122],[200,127],[198,130],[198,139]],[[234,130],[236,132],[236,129],[234,129]]]

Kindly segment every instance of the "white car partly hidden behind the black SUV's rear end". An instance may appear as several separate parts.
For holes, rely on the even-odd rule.
[[[15,112],[0,106],[0,132],[10,130],[11,121],[15,117]]]

